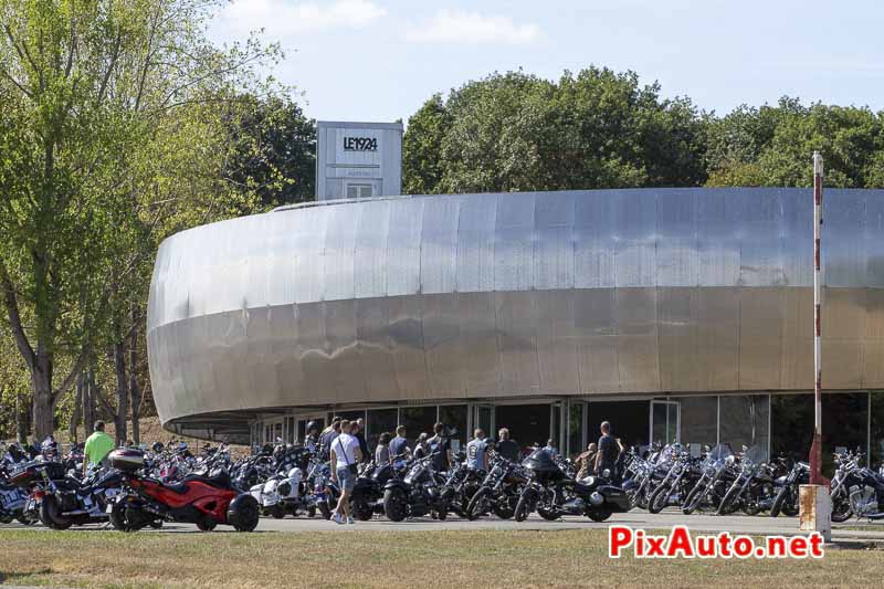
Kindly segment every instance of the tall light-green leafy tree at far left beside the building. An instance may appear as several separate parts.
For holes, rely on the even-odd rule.
[[[53,431],[53,410],[94,346],[128,336],[120,317],[138,295],[126,286],[144,275],[127,281],[149,267],[157,233],[232,207],[217,202],[227,187],[182,201],[223,166],[223,105],[238,88],[261,91],[256,66],[277,50],[254,40],[214,48],[204,36],[214,8],[0,4],[0,295],[38,437]]]

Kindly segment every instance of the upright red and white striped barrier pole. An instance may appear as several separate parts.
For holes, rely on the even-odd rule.
[[[810,484],[825,484],[822,478],[822,343],[820,234],[822,233],[822,156],[813,151],[813,444],[810,446]]]

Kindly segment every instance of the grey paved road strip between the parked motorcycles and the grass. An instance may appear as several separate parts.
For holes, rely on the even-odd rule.
[[[327,522],[319,516],[315,518],[286,517],[285,519],[273,519],[264,517],[259,525],[260,532],[276,532],[276,533],[304,533],[304,532],[322,532],[322,530],[376,530],[376,532],[393,532],[397,529],[404,530],[441,530],[441,529],[582,529],[582,528],[602,528],[606,529],[610,524],[627,524],[635,527],[644,527],[648,529],[653,528],[667,528],[677,524],[685,524],[693,530],[697,532],[733,532],[739,534],[798,534],[798,518],[796,517],[767,517],[757,516],[750,517],[745,515],[732,516],[716,516],[693,514],[690,516],[682,515],[678,511],[664,511],[661,514],[652,515],[646,512],[633,511],[627,514],[614,514],[611,519],[606,523],[593,523],[581,517],[566,517],[556,522],[547,522],[537,515],[533,515],[526,522],[516,523],[512,519],[504,520],[496,517],[483,517],[476,522],[466,522],[456,517],[452,517],[445,522],[436,522],[429,517],[419,517],[415,519],[391,523],[382,517],[376,517],[370,522],[357,522],[352,526],[338,526],[332,522]],[[863,529],[850,529],[851,527],[861,526]],[[0,539],[2,539],[3,529],[24,528],[20,524],[9,524],[0,526]],[[99,529],[101,526],[85,526],[83,528],[72,529]],[[36,527],[34,529],[45,529]],[[219,527],[219,530],[224,527]],[[198,533],[197,528],[191,525],[182,524],[167,524],[164,526],[161,533]],[[884,541],[884,523],[877,525],[870,525],[856,520],[846,524],[836,525],[832,530],[833,540],[877,540]]]

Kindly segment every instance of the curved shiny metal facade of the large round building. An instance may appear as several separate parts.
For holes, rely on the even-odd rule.
[[[884,191],[827,190],[823,383],[884,388]],[[802,189],[329,203],[159,249],[148,351],[167,427],[419,399],[808,390]]]

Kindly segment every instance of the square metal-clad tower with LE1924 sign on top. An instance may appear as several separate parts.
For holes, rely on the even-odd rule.
[[[316,200],[402,193],[401,123],[316,123]]]

